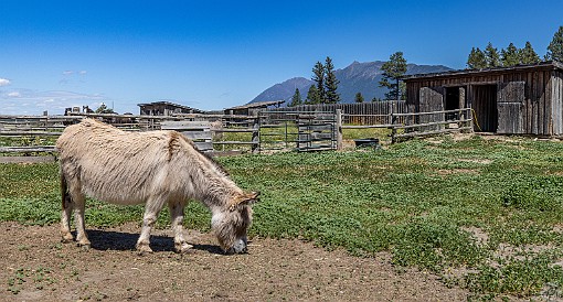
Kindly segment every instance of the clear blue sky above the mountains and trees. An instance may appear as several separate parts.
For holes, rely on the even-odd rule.
[[[543,56],[563,1],[0,2],[0,115],[61,115],[102,103],[120,114],[169,100],[243,105],[274,84],[385,61],[464,68],[472,46],[527,41]]]

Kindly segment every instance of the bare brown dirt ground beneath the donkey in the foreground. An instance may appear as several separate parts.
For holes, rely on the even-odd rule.
[[[88,229],[92,248],[61,244],[54,226],[0,223],[1,301],[465,301],[416,270],[399,273],[387,254],[327,251],[299,240],[253,238],[247,255],[223,256],[212,234],[187,230],[193,252],[172,251],[157,229],[138,255],[139,227]]]

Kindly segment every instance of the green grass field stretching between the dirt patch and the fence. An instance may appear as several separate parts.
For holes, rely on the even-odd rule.
[[[262,192],[251,236],[301,238],[358,257],[389,251],[397,267],[432,271],[479,299],[560,298],[561,154],[561,142],[445,137],[219,160],[242,187]],[[59,222],[56,164],[3,164],[0,174],[1,220]],[[209,229],[201,205],[187,213],[188,227]],[[86,215],[89,226],[111,226],[140,222],[142,207],[91,201]]]

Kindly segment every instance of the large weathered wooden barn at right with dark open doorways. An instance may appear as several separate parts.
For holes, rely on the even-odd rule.
[[[563,64],[543,62],[404,78],[410,111],[474,109],[475,131],[563,134]]]

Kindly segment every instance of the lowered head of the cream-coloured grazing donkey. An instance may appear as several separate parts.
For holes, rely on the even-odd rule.
[[[237,194],[220,212],[213,213],[211,225],[219,245],[226,254],[246,252],[246,230],[252,224],[251,206],[258,202],[257,192]]]

